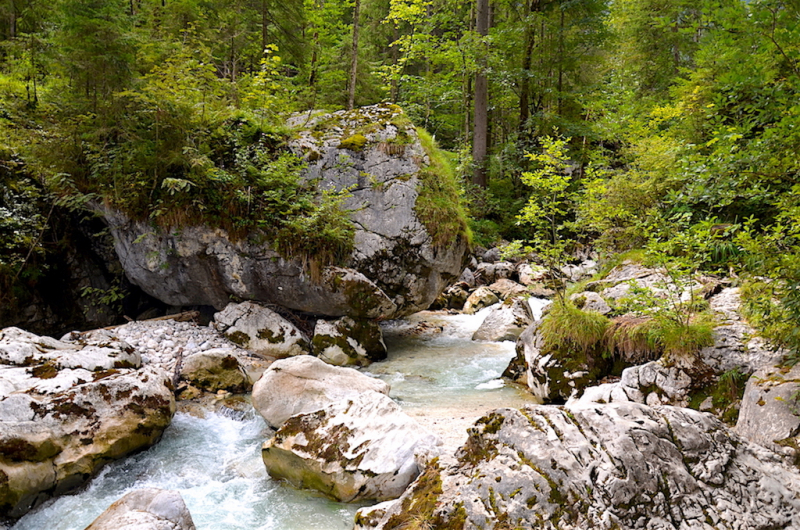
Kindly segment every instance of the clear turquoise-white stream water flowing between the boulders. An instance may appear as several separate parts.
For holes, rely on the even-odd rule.
[[[534,312],[544,302],[532,301]],[[529,394],[500,379],[512,342],[474,342],[486,316],[422,312],[389,322],[386,361],[366,372],[392,385],[391,397],[455,448],[466,427],[488,410],[520,406]],[[161,442],[110,464],[75,495],[48,501],[12,530],[83,530],[128,491],[179,490],[198,530],[335,530],[353,527],[359,506],[299,491],[267,475],[264,420],[241,415],[178,413]]]

